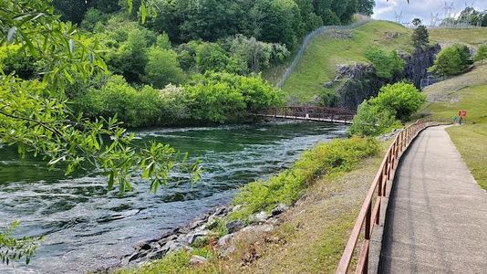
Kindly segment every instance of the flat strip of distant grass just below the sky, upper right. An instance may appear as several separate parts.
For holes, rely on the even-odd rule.
[[[430,41],[440,44],[464,43],[478,46],[487,43],[487,27],[472,29],[430,29]]]

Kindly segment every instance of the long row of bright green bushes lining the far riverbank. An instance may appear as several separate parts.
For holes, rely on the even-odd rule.
[[[188,84],[136,89],[112,76],[74,100],[86,117],[117,117],[130,127],[242,121],[246,114],[284,103],[284,94],[259,76],[207,72]]]

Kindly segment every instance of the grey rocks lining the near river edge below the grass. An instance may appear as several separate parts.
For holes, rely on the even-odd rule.
[[[192,250],[198,242],[207,244],[212,238],[212,246],[219,250],[219,256],[226,257],[233,253],[233,237],[237,233],[270,232],[280,223],[279,216],[287,209],[287,205],[278,205],[270,214],[260,212],[252,215],[248,220],[234,220],[224,224],[224,235],[219,235],[215,227],[223,218],[239,210],[241,205],[223,205],[212,212],[193,220],[189,225],[177,227],[161,237],[141,242],[134,247],[134,251],[123,258],[119,264],[107,269],[97,269],[96,273],[109,273],[111,269],[137,266],[153,259],[160,259],[180,250]],[[204,263],[206,258],[193,256],[191,264]]]

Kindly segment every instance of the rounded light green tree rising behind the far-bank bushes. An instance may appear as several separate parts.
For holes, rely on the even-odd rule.
[[[151,47],[147,58],[145,78],[155,88],[162,89],[169,83],[180,84],[184,79],[178,56],[173,50]]]

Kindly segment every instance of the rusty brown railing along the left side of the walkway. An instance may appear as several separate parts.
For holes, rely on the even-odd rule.
[[[380,164],[372,185],[368,189],[368,194],[364,204],[360,208],[357,221],[338,264],[337,273],[347,273],[349,271],[354,252],[357,249],[358,239],[362,234],[363,242],[359,251],[355,272],[368,273],[370,237],[374,231],[374,227],[379,224],[381,201],[386,196],[387,185],[394,179],[399,159],[421,131],[437,124],[439,123],[434,121],[417,121],[396,135],[394,142],[389,146],[389,150]]]

